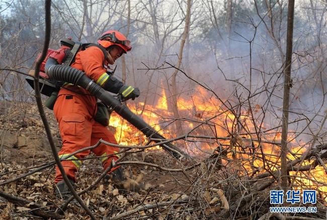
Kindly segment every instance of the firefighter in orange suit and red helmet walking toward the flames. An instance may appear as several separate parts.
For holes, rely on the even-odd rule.
[[[122,100],[134,99],[139,96],[138,88],[125,85],[105,68],[124,53],[132,49],[130,41],[118,31],[110,30],[105,32],[98,40],[97,46],[87,47],[79,51],[71,67],[84,71],[86,75],[101,85],[104,89],[117,93]],[[107,128],[107,123],[97,122],[97,98],[92,96],[86,89],[67,84],[60,89],[57,100],[54,104],[54,115],[59,123],[62,148],[58,153],[59,158],[75,152],[87,146],[95,145],[100,139],[117,144],[117,141]],[[100,144],[91,150],[95,155],[101,157],[104,169],[118,159],[119,149]],[[64,167],[71,183],[76,182],[75,174],[82,164],[84,157],[90,154],[90,150],[70,156],[61,164]],[[109,155],[109,156],[107,156]],[[118,170],[116,170],[118,168]],[[121,168],[115,167],[109,173],[116,172],[121,177]],[[69,190],[63,177],[56,167],[55,175],[56,195],[66,199],[69,197]]]

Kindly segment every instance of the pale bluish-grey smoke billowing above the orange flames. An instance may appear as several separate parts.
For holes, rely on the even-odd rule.
[[[311,27],[314,21],[312,19],[306,21],[305,17],[313,18],[313,13],[318,11],[303,10],[304,8],[296,8],[294,22],[293,81],[289,114],[290,122],[298,120],[300,122],[291,123],[289,130],[295,135],[303,133],[299,138],[301,140],[310,140],[312,133],[321,126],[319,123],[325,110],[323,106],[325,62],[321,57],[325,55],[326,42],[321,36],[317,39],[318,33],[316,31],[312,33],[312,30],[307,28]],[[234,29],[230,35],[224,33],[222,38],[219,38],[214,30],[206,37],[192,33],[200,37],[191,39],[184,48],[181,69],[187,76],[178,72],[179,97],[191,102],[192,98],[198,95],[198,86],[201,84],[215,92],[213,94],[208,91],[206,93],[208,97],[204,98],[203,102],[213,104],[210,98],[228,99],[232,103],[229,107],[238,104],[244,114],[250,114],[248,109],[251,106],[254,109],[253,117],[259,125],[262,123],[263,131],[280,126],[284,81],[282,71],[286,50],[286,11],[287,7],[284,7],[280,15],[274,15],[276,17],[273,27],[269,27],[268,18],[263,22],[258,15],[249,11],[252,13],[249,17],[235,19],[237,21],[234,21]],[[147,89],[143,80],[145,75],[151,85],[145,92],[149,92],[151,101],[155,102],[161,97],[161,90],[157,88],[166,87],[175,70],[169,68],[165,61],[173,65],[177,63],[179,45],[176,44],[167,51],[163,50],[165,53],[160,55],[156,55],[155,49],[145,44],[139,45],[134,51],[137,51],[134,67],[148,66],[154,69],[159,67],[157,70],[137,71],[137,76],[142,75],[138,77],[137,85]],[[149,51],[152,52],[150,55]],[[152,91],[151,88],[154,87],[156,89]],[[222,104],[221,106],[223,107]],[[277,132],[280,130],[277,129]]]

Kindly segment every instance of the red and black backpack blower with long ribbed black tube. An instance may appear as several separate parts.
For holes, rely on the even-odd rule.
[[[40,88],[42,94],[50,97],[54,96],[65,82],[81,86],[87,89],[92,95],[99,98],[103,103],[110,106],[113,111],[135,126],[146,137],[155,139],[157,143],[167,140],[144,122],[142,118],[132,113],[127,105],[121,103],[120,100],[90,79],[84,72],[69,66],[73,63],[76,53],[80,49],[89,46],[99,47],[99,45],[81,44],[71,39],[62,40],[60,43],[61,47],[58,50],[48,50],[46,58],[41,64]],[[34,88],[34,79],[32,77],[27,77],[26,80]],[[177,159],[186,156],[179,148],[171,143],[161,144],[160,146]]]

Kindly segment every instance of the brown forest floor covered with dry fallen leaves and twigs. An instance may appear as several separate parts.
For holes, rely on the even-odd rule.
[[[45,111],[59,151],[57,122],[51,111]],[[55,197],[53,165],[4,184],[54,161],[35,104],[0,103],[0,143],[0,219],[91,219],[74,202],[64,212],[58,212],[64,201]],[[92,156],[79,169],[77,193],[93,184],[102,173],[100,160],[91,159]],[[138,192],[118,189],[111,179],[103,179],[81,194],[81,198],[99,219],[259,219],[269,211],[271,188],[259,192],[256,187],[265,183],[264,180],[248,185],[254,178],[243,178],[237,172],[228,176],[225,170],[223,173],[228,178],[222,179],[222,174],[218,177],[222,170],[218,164],[223,156],[213,152],[206,160],[179,161],[161,150],[128,154],[124,161],[139,164],[125,165],[125,176],[139,183]],[[163,169],[184,168],[184,172],[163,171],[140,163]],[[195,164],[198,166],[185,171]],[[243,187],[249,190],[244,191]],[[312,219],[324,219],[325,213],[326,208],[319,205]],[[307,216],[302,214],[301,219],[308,219],[304,218]]]

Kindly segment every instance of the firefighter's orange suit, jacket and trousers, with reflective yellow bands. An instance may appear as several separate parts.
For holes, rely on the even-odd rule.
[[[100,48],[93,46],[78,52],[75,62],[71,66],[84,71],[89,78],[100,85],[104,85],[109,78],[104,64],[108,64],[104,53]],[[59,123],[62,138],[62,148],[58,153],[59,158],[66,157],[76,150],[95,145],[100,139],[117,144],[114,135],[108,128],[94,120],[97,112],[97,99],[86,89],[74,85],[66,85],[61,88],[53,112]],[[115,154],[119,149],[100,144],[91,151],[97,156],[101,156],[103,168],[106,169],[112,160],[118,158],[117,155],[107,155]],[[82,164],[80,159],[89,154],[90,150],[83,151],[61,161],[68,178],[76,181],[75,173]],[[59,168],[56,167],[55,183],[61,180],[63,180],[62,175]]]

